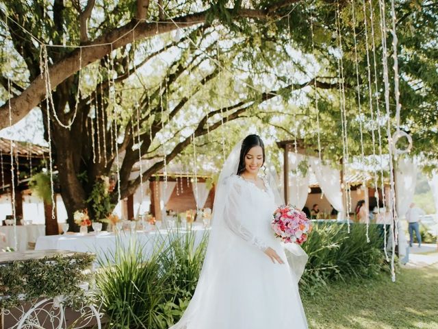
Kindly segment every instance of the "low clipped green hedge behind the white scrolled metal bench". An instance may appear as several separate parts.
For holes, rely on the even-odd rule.
[[[0,308],[61,295],[66,305],[84,302],[86,296],[79,284],[88,278],[84,270],[93,260],[91,254],[57,255],[0,266]]]

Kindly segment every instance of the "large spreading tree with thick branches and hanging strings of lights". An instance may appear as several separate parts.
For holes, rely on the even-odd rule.
[[[7,77],[12,76],[10,86],[6,75],[1,77],[1,84],[11,88],[14,97],[0,108],[0,128],[9,125],[6,118],[10,108],[12,123],[36,106],[42,109],[47,138],[50,128],[54,162],[69,216],[85,207],[95,211],[92,206],[96,199],[92,197],[101,184],[101,175],[120,174],[120,179],[115,177],[116,188],[105,201],[114,204],[118,191],[120,197],[126,197],[138,188],[140,177],[130,180],[129,175],[139,156],[155,159],[153,165],[143,168],[142,180],[146,180],[181,154],[192,138],[201,138],[201,143],[207,144],[202,136],[227,121],[248,116],[279,127],[284,137],[304,138],[315,149],[318,114],[322,127],[320,143],[325,154],[331,153],[338,159],[345,156],[339,143],[343,120],[349,122],[346,141],[352,154],[361,153],[362,122],[364,143],[368,143],[365,151],[372,153],[370,141],[375,127],[365,125],[370,120],[369,112],[357,120],[357,91],[363,108],[370,101],[384,102],[383,96],[366,98],[367,82],[374,82],[374,76],[378,80],[377,90],[383,88],[378,38],[375,45],[378,67],[376,71],[367,70],[370,56],[367,48],[370,52],[372,47],[370,27],[375,28],[376,36],[380,33],[376,2],[250,1],[244,7],[242,1],[235,1],[229,8],[227,3],[140,0],[3,3],[0,12],[8,29],[3,31],[2,38],[9,56],[2,58],[3,68],[14,74],[8,73]],[[357,10],[355,24],[352,5]],[[361,14],[362,5],[365,14]],[[398,11],[403,12],[398,27],[400,39],[406,39],[408,45],[417,42],[412,49],[433,55],[426,42],[427,37],[437,34],[430,25],[436,23],[433,7],[429,3],[419,8],[400,3]],[[370,19],[371,12],[374,21]],[[363,27],[365,17],[368,32]],[[389,15],[387,19],[390,22]],[[417,25],[424,21],[422,28],[428,33],[411,34],[409,38],[406,25],[409,27],[408,23],[413,21]],[[182,30],[182,38],[177,30]],[[168,32],[173,32],[172,37]],[[390,45],[390,34],[387,39]],[[343,46],[342,53],[338,41]],[[63,44],[83,47],[51,47]],[[343,80],[339,78],[339,54],[343,58]],[[411,70],[410,79],[421,80],[421,86],[436,90],[435,79],[411,69],[413,62],[421,65],[423,56],[415,61],[400,56],[399,60],[406,60],[406,65],[401,66],[402,73]],[[79,71],[82,68],[85,69]],[[432,75],[436,77],[435,73]],[[49,80],[52,90],[47,99]],[[345,99],[339,98],[342,81]],[[430,119],[433,97],[413,88],[408,80],[402,81],[402,91],[411,95],[402,101],[422,103]],[[318,108],[315,99],[319,101]],[[339,111],[342,101],[346,117]],[[391,97],[391,111],[393,103]],[[415,117],[414,110],[409,113]],[[294,130],[297,117],[300,128]],[[71,121],[69,129],[62,126]],[[421,125],[415,118],[409,123]],[[428,121],[428,127],[434,125]],[[422,130],[421,136],[426,134]]]

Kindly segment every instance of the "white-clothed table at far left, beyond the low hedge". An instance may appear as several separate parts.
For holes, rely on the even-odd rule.
[[[39,224],[17,225],[15,230],[17,249],[19,252],[31,249],[29,248],[29,243],[36,243],[39,236],[44,236],[44,234],[46,234],[46,226]],[[6,241],[3,244],[8,247],[14,247],[14,226],[0,226],[0,233],[5,234]]]

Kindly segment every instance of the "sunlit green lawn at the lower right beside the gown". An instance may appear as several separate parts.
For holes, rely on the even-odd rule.
[[[438,329],[438,264],[302,295],[310,329]]]

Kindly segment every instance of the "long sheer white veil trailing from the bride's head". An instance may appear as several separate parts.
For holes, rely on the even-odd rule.
[[[179,320],[175,326],[169,329],[185,329],[191,322],[191,319],[196,316],[198,312],[203,308],[203,302],[210,300],[214,297],[214,287],[211,287],[211,282],[218,282],[218,271],[222,266],[230,266],[224,255],[227,254],[227,227],[224,223],[224,208],[227,201],[227,196],[230,192],[230,185],[227,181],[237,173],[237,167],[239,165],[240,149],[242,147],[242,141],[237,143],[227,160],[224,162],[222,171],[216,184],[216,193],[214,197],[213,215],[211,219],[211,232],[209,235],[209,242],[207,245],[207,252],[205,254],[205,260],[203,268],[199,276],[198,284],[196,285],[196,291],[190,301],[188,308],[185,310],[183,317]],[[268,182],[272,193],[274,193],[274,199],[277,206],[284,204],[283,197],[279,191],[279,184],[277,184],[276,177],[270,172],[270,166],[265,162],[266,169],[263,170],[265,175],[265,181]],[[289,266],[292,269],[292,273],[296,276],[296,282],[300,280],[302,272],[304,271],[305,264],[307,263],[307,254],[301,249],[299,245],[295,243],[288,243],[284,245],[285,252]]]

